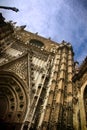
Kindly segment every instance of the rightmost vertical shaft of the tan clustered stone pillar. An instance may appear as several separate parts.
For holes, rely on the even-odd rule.
[[[72,130],[73,126],[73,105],[72,105],[72,75],[73,56],[72,51],[68,53],[68,76],[67,76],[67,129]]]

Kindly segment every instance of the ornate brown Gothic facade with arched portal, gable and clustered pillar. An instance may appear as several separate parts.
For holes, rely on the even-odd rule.
[[[74,130],[73,56],[70,43],[14,27],[0,15],[0,126]]]

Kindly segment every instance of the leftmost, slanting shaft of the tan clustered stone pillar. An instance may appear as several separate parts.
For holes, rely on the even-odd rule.
[[[52,114],[52,109],[53,109],[53,98],[54,98],[54,91],[55,91],[55,87],[56,87],[56,80],[57,80],[57,69],[58,67],[56,66],[57,64],[57,56],[55,56],[55,59],[54,59],[54,62],[53,62],[53,68],[52,68],[52,71],[51,71],[51,78],[50,78],[50,86],[49,86],[49,95],[48,95],[48,99],[47,99],[47,105],[46,105],[46,109],[45,109],[45,112],[44,112],[44,119],[43,119],[43,130],[44,129],[48,129],[48,127],[50,127],[50,119],[51,119],[51,114]],[[56,70],[56,71],[55,71]],[[44,122],[45,125],[44,126]],[[49,128],[50,129],[50,128]]]

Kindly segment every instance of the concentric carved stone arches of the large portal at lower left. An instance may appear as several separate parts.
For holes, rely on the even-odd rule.
[[[0,120],[23,122],[29,97],[26,85],[14,73],[0,71]]]

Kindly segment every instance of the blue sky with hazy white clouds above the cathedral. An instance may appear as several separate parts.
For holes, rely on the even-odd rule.
[[[19,9],[0,9],[6,21],[58,43],[70,42],[80,64],[87,56],[87,0],[0,0],[0,5]]]

